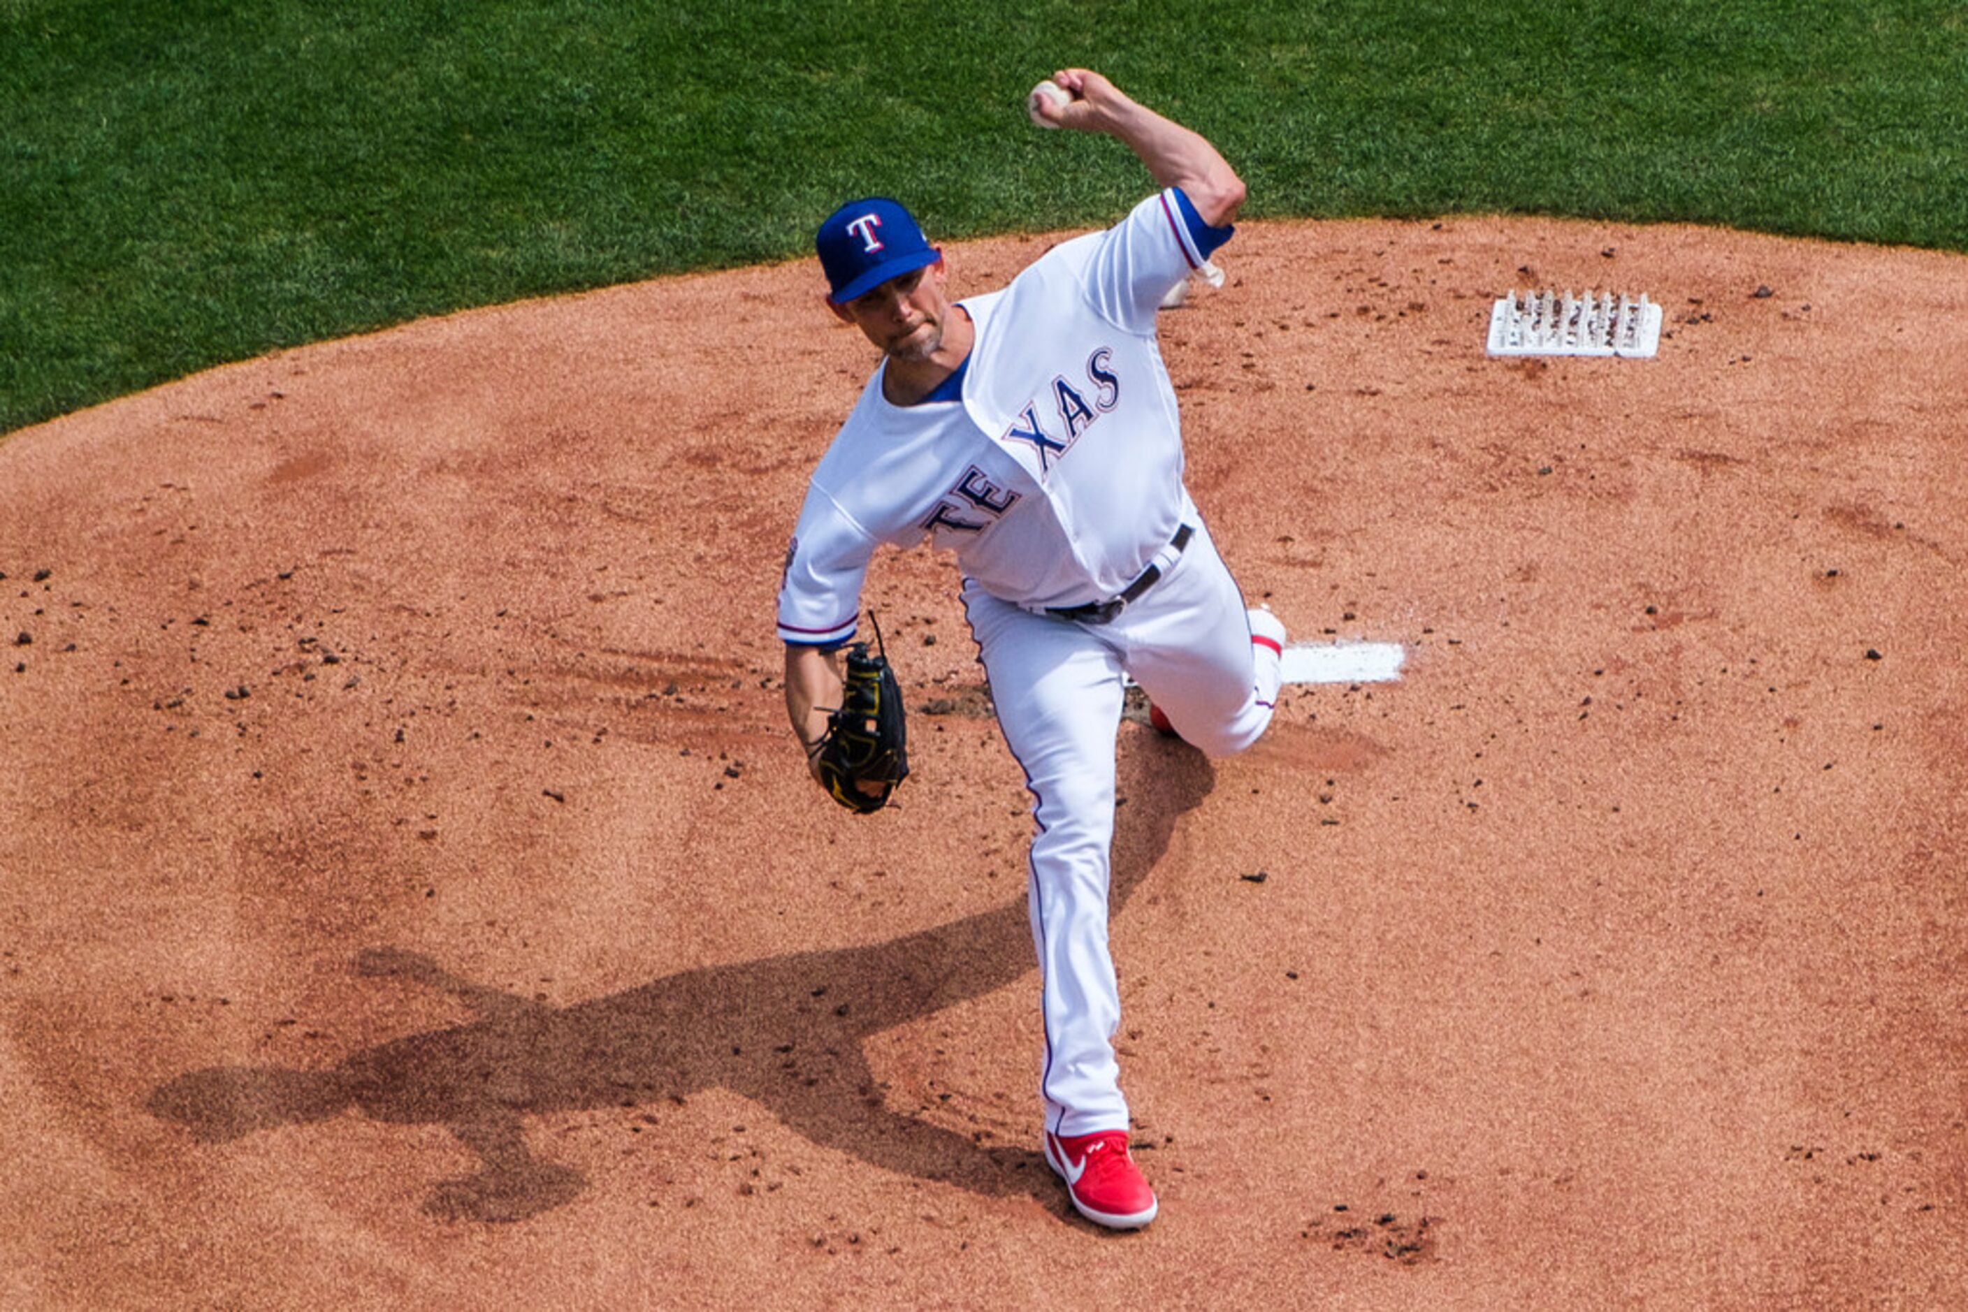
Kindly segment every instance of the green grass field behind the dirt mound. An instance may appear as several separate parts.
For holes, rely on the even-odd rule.
[[[1112,216],[1110,73],[1246,216],[1698,220],[1968,248],[1958,0],[0,0],[0,433],[464,305]]]

